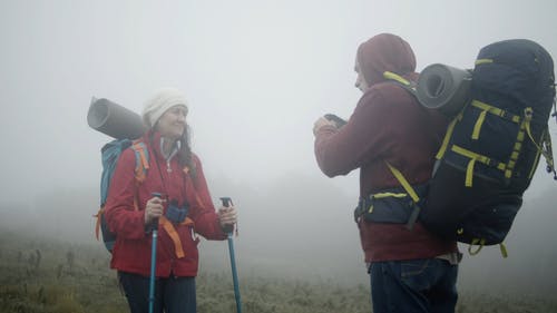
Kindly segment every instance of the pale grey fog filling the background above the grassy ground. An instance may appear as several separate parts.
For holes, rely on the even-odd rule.
[[[554,0],[494,1],[17,1],[0,0],[0,227],[94,237],[100,147],[91,97],[136,113],[165,86],[189,101],[193,148],[209,189],[240,212],[240,276],[365,284],[352,211],[358,172],[326,178],[312,127],[348,118],[358,46],[393,32],[418,70],[472,68],[479,49],[526,38],[557,58]],[[555,119],[550,133],[557,138]],[[557,294],[555,193],[540,162],[506,244],[465,253],[460,285]],[[466,252],[466,246],[461,246]],[[225,242],[201,245],[202,271],[228,271]]]

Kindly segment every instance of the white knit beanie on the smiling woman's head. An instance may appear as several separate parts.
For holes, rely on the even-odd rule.
[[[163,114],[174,107],[184,106],[187,114],[187,101],[180,90],[172,87],[158,89],[143,108],[143,121],[147,127],[153,128]]]

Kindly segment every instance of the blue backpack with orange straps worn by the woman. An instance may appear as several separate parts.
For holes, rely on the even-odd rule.
[[[108,225],[105,221],[105,204],[108,197],[108,190],[110,188],[110,182],[113,179],[114,170],[116,169],[116,164],[121,155],[121,153],[131,148],[136,155],[136,167],[135,177],[138,184],[143,183],[147,169],[149,168],[149,151],[145,144],[140,140],[129,140],[129,139],[116,139],[106,144],[101,149],[102,157],[102,174],[100,176],[100,208],[95,215],[97,223],[95,226],[95,235],[99,239],[99,233],[102,233],[102,242],[105,247],[111,253],[114,244],[116,242],[116,234],[110,232]],[[137,207],[137,206],[136,206]]]

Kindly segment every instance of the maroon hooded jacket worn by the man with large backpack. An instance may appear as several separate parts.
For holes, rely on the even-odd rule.
[[[330,177],[360,168],[361,196],[400,186],[384,160],[410,184],[424,183],[431,177],[447,120],[382,77],[389,70],[417,78],[410,46],[394,36],[379,36],[362,43],[358,58],[371,88],[345,126],[325,126],[316,134],[320,168]],[[420,223],[409,231],[403,224],[369,223],[362,218],[359,228],[365,262],[428,258],[457,250],[455,242],[439,239]]]

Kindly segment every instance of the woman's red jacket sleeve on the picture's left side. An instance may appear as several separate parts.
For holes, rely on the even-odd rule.
[[[109,229],[124,238],[145,236],[144,211],[134,208],[137,194],[135,166],[135,153],[131,149],[124,150],[116,165],[105,205]]]

